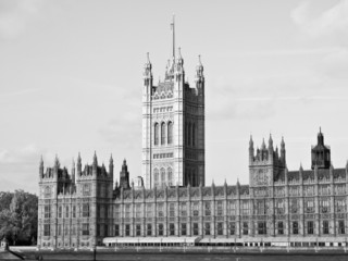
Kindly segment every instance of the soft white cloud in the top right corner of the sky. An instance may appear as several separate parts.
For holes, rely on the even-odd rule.
[[[293,10],[290,17],[294,23],[313,38],[335,35],[337,38],[348,40],[348,0],[338,1],[318,15],[313,11],[313,3],[315,4],[315,1],[301,2]]]

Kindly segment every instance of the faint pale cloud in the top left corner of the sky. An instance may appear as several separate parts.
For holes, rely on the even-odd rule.
[[[41,0],[0,1],[0,38],[18,37],[39,11]]]

